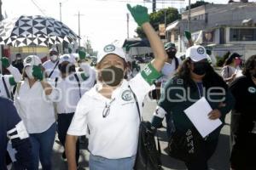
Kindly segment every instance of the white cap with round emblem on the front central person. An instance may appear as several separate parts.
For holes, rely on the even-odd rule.
[[[107,46],[105,46],[102,51],[99,52],[99,54],[97,55],[97,64],[100,63],[102,61],[102,59],[108,55],[108,54],[116,54],[118,55],[120,58],[125,59],[125,53],[123,48],[119,48],[114,46],[113,44],[108,44]]]

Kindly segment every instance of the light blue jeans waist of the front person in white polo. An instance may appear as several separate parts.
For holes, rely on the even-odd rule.
[[[89,167],[90,170],[132,170],[135,158],[136,156],[121,159],[107,159],[90,154]]]

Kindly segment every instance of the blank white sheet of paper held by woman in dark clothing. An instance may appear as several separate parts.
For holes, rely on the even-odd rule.
[[[222,124],[219,119],[209,119],[211,111],[212,108],[204,97],[184,111],[203,138]]]

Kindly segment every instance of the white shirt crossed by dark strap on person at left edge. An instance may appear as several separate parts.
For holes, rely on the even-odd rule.
[[[22,79],[20,71],[17,68],[10,65],[7,69],[9,70],[11,75],[2,75],[2,74],[0,74],[0,97],[3,97],[3,98],[8,98],[8,95],[7,95],[6,90],[4,88],[2,77],[5,80],[6,86],[9,90],[9,94],[11,93],[11,90],[12,90],[12,85],[9,83],[9,79],[11,77],[14,77],[15,82],[20,82],[20,80]]]

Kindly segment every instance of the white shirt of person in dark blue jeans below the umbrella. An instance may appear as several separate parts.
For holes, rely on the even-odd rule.
[[[55,122],[53,101],[57,96],[55,88],[46,96],[41,82],[35,82],[32,88],[27,79],[21,82],[15,93],[15,107],[28,133],[43,133]]]

